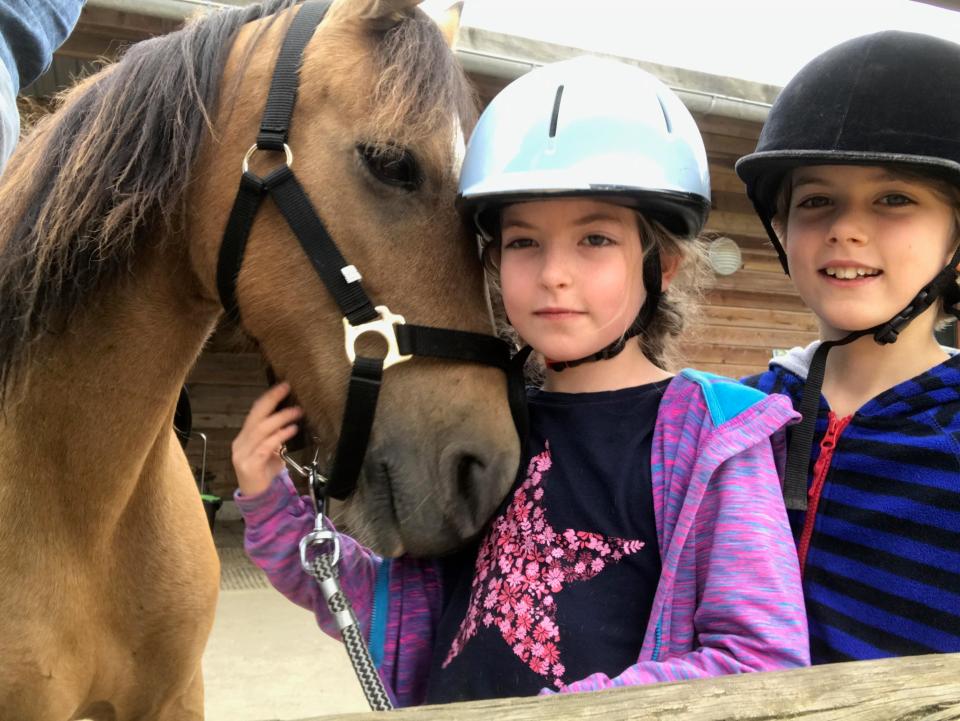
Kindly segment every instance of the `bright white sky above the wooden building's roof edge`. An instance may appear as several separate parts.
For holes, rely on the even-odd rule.
[[[450,3],[421,7],[436,14]],[[461,23],[773,85],[877,30],[960,43],[960,11],[912,0],[465,0]]]

